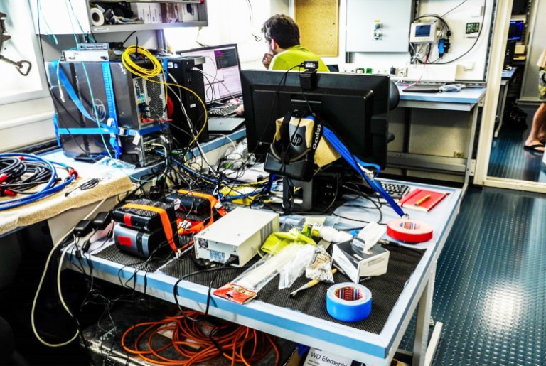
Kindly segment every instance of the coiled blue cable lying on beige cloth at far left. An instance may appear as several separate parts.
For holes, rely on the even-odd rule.
[[[51,177],[48,181],[48,183],[45,184],[45,187],[42,188],[40,191],[33,193],[31,195],[25,195],[21,198],[14,198],[13,200],[3,201],[0,203],[0,210],[8,210],[10,208],[16,208],[21,205],[25,205],[26,203],[33,203],[37,200],[41,200],[42,198],[47,197],[48,195],[52,195],[53,193],[57,193],[59,190],[63,190],[67,185],[72,183],[76,175],[70,175],[63,183],[60,183],[58,185],[55,185],[55,178],[57,177],[57,170],[55,169],[55,165],[57,164],[59,166],[63,166],[63,168],[68,169],[69,167],[63,163],[55,163],[53,161],[48,161],[45,158],[41,158],[40,156],[32,155],[32,154],[22,154],[22,153],[4,153],[0,154],[0,158],[20,158],[23,157],[26,160],[29,161],[41,161],[42,163],[45,163],[49,166],[51,170]]]

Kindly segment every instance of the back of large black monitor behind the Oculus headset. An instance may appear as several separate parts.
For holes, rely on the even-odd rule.
[[[299,72],[243,70],[241,75],[249,151],[264,155],[274,139],[275,120],[309,109],[309,103],[351,153],[366,163],[387,165],[387,112],[397,95],[388,75],[318,72],[316,87],[305,91]]]

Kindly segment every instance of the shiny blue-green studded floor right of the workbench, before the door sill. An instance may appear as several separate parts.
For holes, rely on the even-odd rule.
[[[432,316],[444,323],[433,365],[546,365],[546,195],[469,189]],[[413,321],[401,348],[412,332]]]

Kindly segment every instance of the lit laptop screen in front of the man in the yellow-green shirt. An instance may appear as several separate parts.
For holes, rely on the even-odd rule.
[[[176,51],[181,56],[203,56],[205,103],[224,102],[242,94],[237,45],[216,45]]]

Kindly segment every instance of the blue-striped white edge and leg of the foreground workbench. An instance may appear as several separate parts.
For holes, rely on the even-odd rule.
[[[426,355],[430,360],[433,355],[433,353],[427,354],[426,351],[436,261],[458,212],[461,190],[430,185],[413,186],[442,190],[449,195],[437,208],[434,208],[433,213],[410,212],[412,217],[418,220],[427,220],[433,225],[434,237],[427,243],[419,244],[419,247],[427,250],[407,281],[379,334],[358,330],[353,328],[350,323],[340,324],[325,321],[290,308],[274,306],[259,300],[239,305],[213,296],[209,313],[281,338],[351,357],[353,360],[366,362],[368,365],[380,366],[390,365],[390,360],[395,355],[412,314],[419,306],[414,343],[414,364],[424,365]],[[358,220],[378,219],[378,212],[354,210],[354,218],[358,217]],[[389,222],[395,218],[395,213],[385,206],[382,208],[382,214],[382,222]],[[340,222],[340,225],[342,224],[348,225],[350,221]],[[354,224],[353,222],[352,225]],[[86,264],[86,262],[82,261],[82,264]],[[120,284],[120,281],[124,284],[130,279],[131,288],[135,286],[137,291],[146,291],[146,294],[151,296],[174,301],[173,286],[176,284],[176,277],[168,276],[161,271],[146,272],[94,255],[90,256],[90,263],[93,267],[93,274],[101,279],[113,284]],[[72,265],[71,268],[75,269],[76,267]],[[207,286],[201,286],[191,281],[181,281],[178,287],[178,301],[188,308],[204,311],[207,291]],[[309,296],[309,294],[312,294],[311,290],[308,291],[308,294],[302,293],[301,296]],[[317,298],[316,301],[325,301],[325,299]]]

